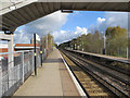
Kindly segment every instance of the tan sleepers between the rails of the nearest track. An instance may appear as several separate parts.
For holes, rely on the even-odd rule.
[[[69,60],[69,62],[72,62],[72,61]],[[74,65],[75,65],[75,63],[74,63]],[[69,66],[72,68],[73,65],[69,65]],[[77,70],[77,71],[74,71],[74,73],[77,76],[77,78],[80,81],[81,85],[83,86],[83,88],[86,90],[91,89],[91,90],[89,90],[90,93],[87,90],[89,96],[93,96],[93,97],[94,96],[102,96],[102,97],[104,97],[104,96],[112,95],[110,93],[105,91],[103,87],[100,87],[99,84],[96,84],[96,82],[95,83],[92,82],[94,79],[91,78],[91,76],[88,76],[87,73],[84,73],[83,71],[81,72],[81,68],[78,66],[78,69],[80,69],[80,72],[78,72],[78,70]],[[73,70],[73,68],[72,68],[72,70]]]

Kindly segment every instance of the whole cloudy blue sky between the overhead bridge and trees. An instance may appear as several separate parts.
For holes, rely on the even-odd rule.
[[[51,33],[57,45],[68,41],[82,34],[94,33],[98,29],[104,33],[108,26],[128,27],[127,12],[101,12],[101,11],[74,11],[74,13],[61,13],[61,11],[20,26],[14,32],[14,44],[28,44],[32,34],[40,37]]]

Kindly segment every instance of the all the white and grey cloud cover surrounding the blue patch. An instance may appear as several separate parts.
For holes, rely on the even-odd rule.
[[[91,25],[89,28],[77,26],[75,30],[61,30],[61,27],[67,22],[68,15],[68,13],[57,11],[17,28],[15,30],[15,42],[29,42],[34,33],[44,36],[47,33],[52,32],[55,42],[61,44],[79,35],[87,35],[88,32],[95,28],[102,32],[108,26],[128,27],[128,13],[106,12],[104,17],[98,17],[96,24]]]

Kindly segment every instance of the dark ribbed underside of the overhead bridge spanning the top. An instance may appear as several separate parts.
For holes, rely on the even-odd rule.
[[[129,0],[120,0],[122,2],[112,2],[113,0],[104,0],[103,2],[95,2],[95,0],[51,0],[51,2],[49,1],[50,0],[47,0],[46,2],[34,2],[32,0],[29,3],[25,2],[25,5],[23,5],[22,8],[16,8],[16,10],[9,11],[8,13],[2,13],[2,22],[5,24],[3,24],[2,28],[5,28],[5,26],[10,26],[10,29],[15,29],[21,25],[35,21],[57,10],[129,12],[127,2]],[[6,8],[6,10],[8,9],[9,8]]]

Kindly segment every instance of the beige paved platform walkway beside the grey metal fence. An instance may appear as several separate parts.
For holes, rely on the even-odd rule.
[[[52,51],[13,96],[79,96],[57,49]]]

